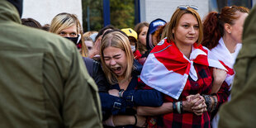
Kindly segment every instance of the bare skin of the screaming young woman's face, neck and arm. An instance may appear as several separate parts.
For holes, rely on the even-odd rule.
[[[130,83],[130,79],[124,80],[125,72],[127,68],[126,64],[126,53],[125,51],[116,48],[116,47],[107,47],[103,50],[104,61],[107,64],[107,67],[112,70],[113,73],[116,73],[118,84],[121,89],[126,90]],[[111,89],[108,93],[112,96],[119,97],[119,90]],[[115,126],[126,126],[135,124],[135,116],[126,116],[126,115],[116,115],[113,116],[112,121]],[[138,127],[145,127],[146,118],[144,116],[137,116]]]

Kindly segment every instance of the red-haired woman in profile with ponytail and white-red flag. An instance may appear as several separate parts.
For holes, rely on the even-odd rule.
[[[220,13],[210,12],[203,23],[204,40],[202,45],[210,49],[216,59],[220,60],[228,69],[225,82],[229,86],[233,83],[235,76],[233,65],[242,47],[244,20],[248,13],[249,9],[246,7],[223,7]],[[218,92],[219,88],[220,86],[216,86],[213,91]],[[213,119],[213,127],[217,127],[218,119],[218,116]]]

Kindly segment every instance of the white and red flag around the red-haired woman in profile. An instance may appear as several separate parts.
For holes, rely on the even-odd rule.
[[[223,39],[220,38],[219,44],[211,49],[211,53],[214,54],[216,56],[216,59],[218,59],[220,63],[225,66],[225,69],[228,70],[227,77],[225,78],[225,82],[228,83],[228,85],[233,82],[233,79],[235,77],[235,70],[233,69],[233,66],[235,64],[235,58],[238,55],[241,46],[241,44],[238,44],[236,46],[235,53],[230,54],[230,51],[226,48]]]

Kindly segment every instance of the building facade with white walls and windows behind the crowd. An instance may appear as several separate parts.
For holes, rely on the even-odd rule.
[[[24,0],[24,18],[32,17],[42,25],[50,24],[59,12],[76,14],[83,31],[99,31],[109,24],[131,27],[141,21],[162,18],[169,21],[179,5],[195,5],[201,18],[208,12],[219,12],[225,6],[253,7],[256,0]]]

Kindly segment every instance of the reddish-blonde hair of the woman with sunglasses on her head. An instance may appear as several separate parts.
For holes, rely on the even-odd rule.
[[[192,9],[191,7],[187,7],[186,10],[183,9],[177,9],[174,13],[173,13],[173,17],[171,18],[171,20],[168,23],[168,30],[167,30],[167,40],[168,42],[170,42],[171,40],[174,41],[174,35],[172,30],[175,29],[176,26],[178,26],[178,22],[181,19],[181,17],[183,17],[184,14],[192,14],[194,17],[197,18],[197,22],[198,22],[198,27],[199,27],[199,36],[197,39],[197,44],[201,44],[202,38],[203,38],[203,32],[202,32],[202,24],[201,24],[201,18],[200,15],[198,14],[198,12],[194,9]]]

